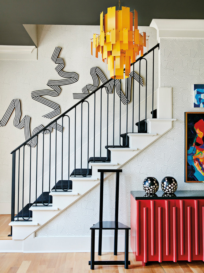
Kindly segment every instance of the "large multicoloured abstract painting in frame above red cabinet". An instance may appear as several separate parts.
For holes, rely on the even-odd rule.
[[[185,113],[185,182],[204,182],[204,112]]]

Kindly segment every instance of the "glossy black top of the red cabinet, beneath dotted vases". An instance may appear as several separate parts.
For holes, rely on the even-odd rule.
[[[155,194],[147,194],[144,190],[132,190],[132,196],[135,200],[147,199],[204,199],[204,190],[176,190],[169,194],[158,190]]]

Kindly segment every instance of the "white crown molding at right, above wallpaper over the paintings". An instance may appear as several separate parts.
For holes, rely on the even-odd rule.
[[[150,27],[157,30],[158,40],[161,37],[204,37],[204,20],[152,19]]]

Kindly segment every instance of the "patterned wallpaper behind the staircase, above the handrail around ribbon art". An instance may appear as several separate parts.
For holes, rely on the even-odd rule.
[[[30,31],[34,30],[33,27],[26,27]],[[59,96],[46,96],[47,99],[61,106],[61,113],[78,101],[73,99],[73,93],[80,93],[85,85],[93,83],[90,75],[91,67],[99,67],[109,79],[109,72],[106,70],[102,58],[99,56],[97,59],[95,56],[91,56],[90,38],[93,33],[98,33],[98,29],[99,26],[37,25],[38,60],[0,60],[0,120],[12,99],[18,98],[21,101],[22,117],[25,115],[31,117],[31,132],[36,126],[47,125],[50,122],[49,119],[42,117],[50,112],[50,107],[34,101],[31,98],[31,92],[46,89],[48,80],[63,79],[55,71],[56,64],[51,60],[56,46],[62,48],[59,57],[63,58],[65,62],[64,71],[76,72],[79,75],[79,80],[76,83],[61,87],[62,91]],[[150,35],[150,48],[157,43],[154,28],[139,27],[139,29]],[[157,53],[155,55],[157,58]],[[158,67],[155,69],[155,75],[157,75]],[[142,70],[141,75],[144,74],[143,72]],[[155,77],[155,85],[156,83],[157,77]],[[150,92],[151,86],[148,85],[147,90]],[[90,111],[93,112],[92,106]],[[115,111],[119,112],[117,109]],[[12,156],[10,152],[25,140],[24,129],[15,128],[13,118],[14,113],[6,126],[0,128],[0,207],[1,203],[9,204],[11,198]],[[60,145],[58,150],[60,152]],[[33,155],[35,155],[34,152]],[[39,163],[41,161],[39,160]],[[45,165],[46,172],[49,164],[45,162]],[[27,168],[28,166],[26,166]]]

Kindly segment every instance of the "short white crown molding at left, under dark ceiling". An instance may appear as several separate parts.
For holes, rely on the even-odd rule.
[[[33,45],[0,45],[0,59],[37,60],[37,52]]]

